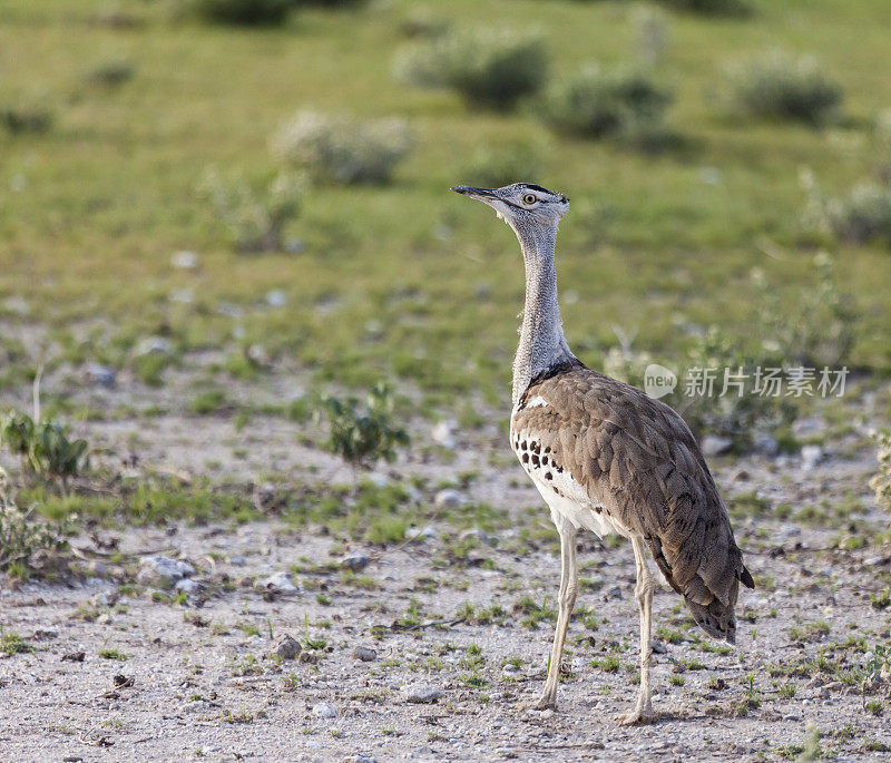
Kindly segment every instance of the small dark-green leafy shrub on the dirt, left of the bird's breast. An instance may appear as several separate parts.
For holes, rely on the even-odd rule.
[[[322,411],[327,418],[327,448],[355,468],[370,468],[379,459],[393,461],[396,449],[409,444],[404,429],[393,423],[393,400],[389,389],[375,385],[360,405],[355,398],[325,397]]]

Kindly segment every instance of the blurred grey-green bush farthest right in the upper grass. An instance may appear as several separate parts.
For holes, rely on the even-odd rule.
[[[782,51],[763,53],[731,71],[732,105],[754,117],[820,125],[833,119],[842,102],[841,87],[811,57]]]

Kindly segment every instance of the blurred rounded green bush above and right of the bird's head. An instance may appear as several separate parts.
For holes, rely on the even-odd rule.
[[[542,110],[556,128],[590,138],[646,140],[665,135],[672,95],[643,71],[588,65],[547,94]]]

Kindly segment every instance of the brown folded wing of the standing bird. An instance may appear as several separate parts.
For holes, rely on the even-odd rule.
[[[526,407],[536,397],[547,405]],[[668,405],[575,361],[532,381],[513,415],[593,500],[640,535],[706,633],[733,640],[752,576],[696,439]]]

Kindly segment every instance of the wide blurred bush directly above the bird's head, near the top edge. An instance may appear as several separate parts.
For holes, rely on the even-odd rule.
[[[548,59],[538,35],[478,29],[421,42],[396,59],[396,76],[411,85],[447,87],[472,106],[512,107],[537,92]]]

